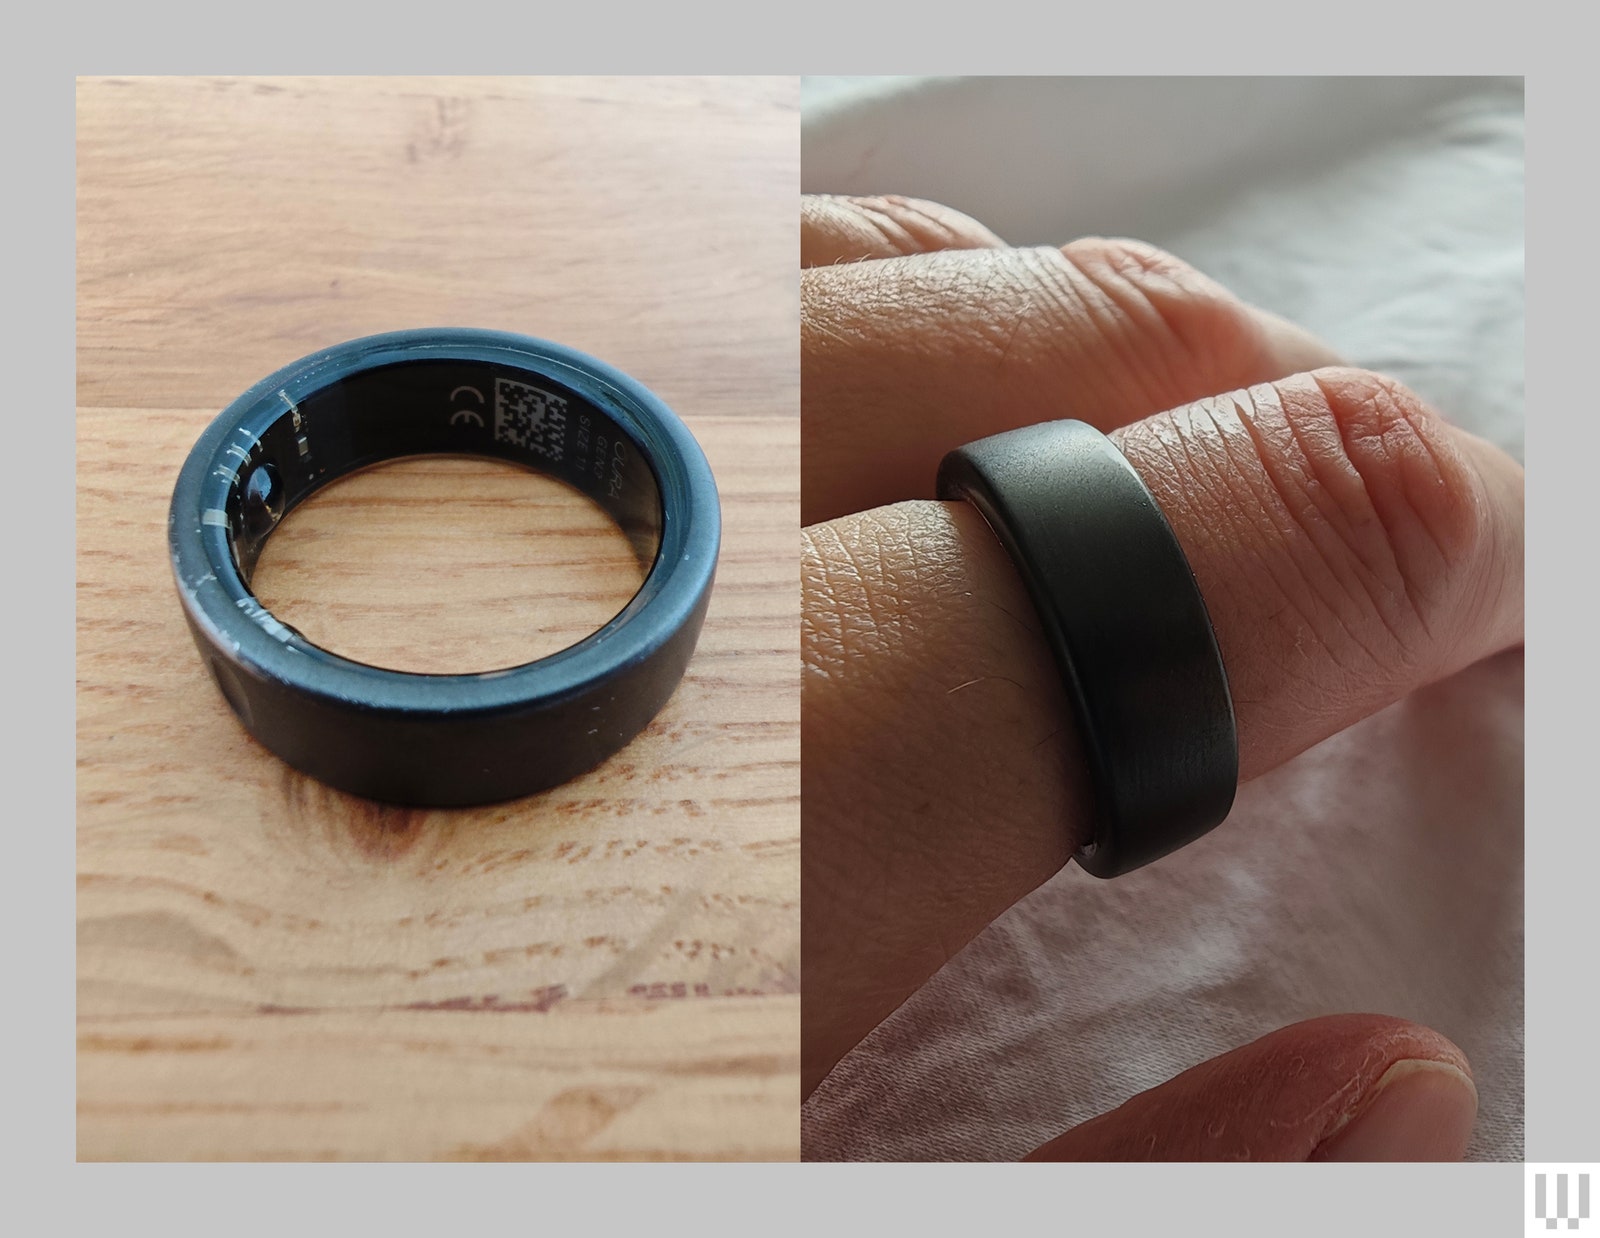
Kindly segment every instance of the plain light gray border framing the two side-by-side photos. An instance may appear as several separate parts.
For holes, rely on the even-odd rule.
[[[30,238],[14,254],[22,286],[13,290],[13,304],[26,304],[27,313],[11,315],[10,342],[13,355],[30,358],[30,365],[13,379],[11,432],[19,435],[13,451],[37,465],[16,470],[8,496],[11,529],[27,531],[26,542],[19,533],[11,534],[22,571],[10,617],[34,656],[24,659],[19,678],[13,680],[13,717],[26,707],[30,725],[21,749],[13,739],[10,753],[16,760],[11,768],[27,769],[30,777],[22,784],[22,801],[14,806],[13,840],[21,854],[6,865],[6,877],[13,926],[26,929],[21,940],[42,940],[40,947],[19,952],[13,976],[18,1017],[10,1028],[11,1060],[18,1067],[26,1064],[27,1073],[26,1086],[16,1092],[22,1112],[13,1112],[8,1123],[14,1132],[10,1163],[14,1180],[24,1184],[13,1211],[27,1217],[35,1209],[48,1209],[61,1219],[62,1230],[94,1222],[120,1227],[130,1216],[144,1216],[160,1219],[170,1233],[214,1232],[214,1217],[237,1219],[243,1232],[264,1232],[269,1225],[318,1232],[339,1220],[360,1219],[368,1227],[389,1225],[406,1233],[459,1224],[469,1208],[488,1216],[534,1212],[549,1219],[581,1219],[594,1216],[597,1192],[610,1188],[602,1196],[608,1224],[635,1219],[650,1227],[646,1232],[664,1220],[670,1227],[674,1216],[694,1217],[696,1228],[710,1224],[715,1232],[722,1220],[730,1232],[742,1232],[750,1219],[763,1216],[771,1219],[762,1222],[765,1228],[802,1233],[837,1224],[845,1214],[859,1222],[850,1228],[861,1232],[904,1232],[909,1224],[920,1222],[934,1233],[973,1233],[1016,1224],[1037,1227],[1042,1220],[1051,1228],[1078,1232],[1102,1220],[1123,1232],[1130,1220],[1138,1220],[1141,1233],[1189,1233],[1197,1217],[1214,1209],[1213,1214],[1230,1219],[1230,1232],[1238,1235],[1290,1232],[1349,1238],[1355,1220],[1384,1220],[1386,1233],[1515,1233],[1509,1217],[1515,1216],[1512,1209],[1520,1209],[1520,1171],[1494,1164],[1411,1169],[1403,1179],[1382,1166],[1346,1166],[1344,1171],[1323,1166],[1320,1179],[1293,1168],[1267,1172],[1194,1166],[1126,1171],[1126,1176],[1094,1166],[1064,1171],[1008,1166],[971,1171],[944,1166],[915,1171],[523,1166],[499,1172],[443,1166],[429,1174],[403,1166],[366,1171],[286,1166],[270,1171],[275,1174],[270,1192],[259,1190],[264,1184],[256,1176],[267,1171],[232,1166],[206,1171],[104,1166],[83,1171],[93,1172],[93,1179],[83,1180],[72,1180],[70,1171],[62,1172],[75,1147],[69,1104],[75,1072],[75,963],[72,905],[66,894],[75,865],[70,673],[75,635],[67,622],[74,613],[75,576],[74,440],[72,425],[59,416],[74,373],[72,75],[134,64],[147,72],[154,67],[194,70],[216,67],[219,59],[222,64],[240,59],[237,46],[211,58],[210,64],[192,50],[176,53],[173,24],[162,14],[149,6],[122,13],[125,16],[114,22],[82,22],[85,29],[75,32],[70,54],[54,48],[29,51],[11,75],[18,99],[29,102],[29,109],[18,109],[14,115],[43,117],[19,125],[14,134],[22,163],[13,173],[13,186],[26,192],[11,203],[18,213],[13,235]],[[323,48],[333,48],[339,32],[330,30],[326,11],[315,27],[302,24],[310,13],[310,6],[298,13],[285,13],[280,6],[270,24],[258,22],[251,30],[251,67],[304,67],[314,61],[320,62],[317,67],[360,66],[371,72],[394,66],[402,56],[406,66],[432,58],[430,67],[446,58],[438,40],[448,40],[448,30],[438,22],[390,24],[389,42],[374,51],[373,22],[354,19],[346,27],[350,35],[346,45],[363,48],[360,54],[317,54],[304,48],[302,32],[317,29]],[[1534,653],[1528,659],[1533,741],[1528,745],[1533,809],[1528,830],[1528,1152],[1542,1160],[1595,1160],[1600,1132],[1594,1100],[1600,1096],[1600,1060],[1592,1051],[1595,926],[1589,888],[1600,859],[1600,838],[1589,825],[1587,789],[1579,787],[1579,771],[1592,763],[1587,742],[1592,726],[1586,726],[1584,702],[1571,694],[1565,701],[1557,696],[1557,685],[1587,686],[1600,678],[1600,654],[1586,622],[1589,573],[1574,569],[1574,565],[1592,561],[1587,513],[1581,504],[1592,493],[1586,462],[1595,459],[1597,433],[1594,400],[1586,398],[1584,382],[1592,353],[1587,328],[1594,313],[1587,253],[1592,197],[1584,157],[1592,146],[1594,72],[1578,62],[1581,40],[1573,38],[1571,30],[1558,32],[1554,22],[1547,30],[1531,29],[1536,19],[1450,24],[1440,21],[1434,6],[1418,6],[1411,14],[1386,3],[1344,5],[1331,22],[1307,16],[1307,26],[1315,29],[1302,29],[1291,43],[1280,8],[1258,6],[1258,19],[1251,21],[1227,21],[1214,8],[1189,8],[1190,16],[1179,19],[1182,29],[1168,27],[1171,37],[1162,48],[1146,37],[1152,27],[1144,14],[1056,10],[1061,14],[1056,24],[1040,26],[1037,10],[1018,6],[1006,13],[987,6],[982,22],[992,34],[982,42],[997,50],[984,56],[971,50],[970,35],[958,27],[931,22],[930,32],[920,35],[885,11],[874,30],[858,24],[859,6],[850,13],[850,19],[832,21],[826,10],[811,6],[803,22],[805,35],[795,38],[787,30],[774,42],[757,38],[742,19],[718,26],[694,21],[677,8],[664,10],[661,27],[653,32],[659,42],[640,40],[634,46],[648,46],[656,67],[706,67],[710,62],[725,69],[787,70],[798,61],[829,69],[843,64],[966,72],[1192,72],[1197,67],[1269,66],[1274,56],[1267,40],[1277,35],[1278,46],[1293,46],[1296,69],[1506,72],[1533,66],[1528,72],[1528,234],[1536,243],[1528,264],[1534,291],[1530,298],[1528,392],[1541,411],[1531,417],[1536,432],[1530,467],[1539,486],[1530,510],[1533,528],[1546,533],[1536,534],[1530,555],[1528,619]],[[614,27],[608,10],[592,10],[592,14],[586,30],[579,30],[570,14],[554,27],[542,22],[542,50],[515,46],[515,40],[475,40],[482,46],[472,53],[478,61],[472,67],[517,72],[546,67],[539,61],[571,59],[578,35],[587,35],[586,46],[594,48],[616,34],[600,29]],[[453,13],[458,30],[482,29],[469,16],[461,10]],[[1141,37],[1130,38],[1130,27],[1141,27]],[[216,42],[224,40],[211,21],[184,29],[187,38],[216,29]],[[744,51],[731,46],[736,30],[746,38]],[[1021,30],[1029,35],[1016,37]],[[466,43],[466,35],[459,37]],[[397,43],[403,48],[400,56]],[[427,51],[427,45],[434,50]],[[1539,48],[1538,58],[1528,51],[1533,46]],[[963,54],[981,62],[958,64]],[[1104,58],[1107,62],[1099,62]],[[454,59],[467,59],[467,53]],[[578,59],[597,58],[590,51]],[[637,51],[608,59],[608,69],[648,67],[640,64],[643,56]],[[779,64],[771,64],[774,59]],[[42,414],[30,417],[27,409],[42,409]],[[1552,425],[1555,432],[1546,438],[1541,425]],[[26,523],[16,518],[21,512],[27,513]],[[1563,533],[1566,541],[1562,541]],[[8,643],[16,648],[21,641]],[[58,897],[64,907],[58,909]],[[624,1172],[629,1190],[618,1192]],[[251,1185],[258,1190],[248,1190]],[[1157,1185],[1166,1190],[1150,1190]],[[250,1201],[243,1212],[242,1198]]]

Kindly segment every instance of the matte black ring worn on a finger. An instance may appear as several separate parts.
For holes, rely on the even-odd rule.
[[[1056,421],[982,438],[939,465],[1027,582],[1077,705],[1094,840],[1077,861],[1117,877],[1218,825],[1238,784],[1227,673],[1166,517],[1106,435]]]

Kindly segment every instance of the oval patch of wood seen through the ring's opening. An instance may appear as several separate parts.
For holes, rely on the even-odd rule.
[[[576,645],[643,579],[622,529],[574,486],[429,456],[344,477],[290,512],[251,590],[328,649],[450,675]]]

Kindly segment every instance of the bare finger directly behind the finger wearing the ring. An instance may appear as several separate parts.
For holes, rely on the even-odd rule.
[[[802,520],[933,497],[946,451],[1102,430],[1338,357],[1171,254],[1091,237],[800,277]]]

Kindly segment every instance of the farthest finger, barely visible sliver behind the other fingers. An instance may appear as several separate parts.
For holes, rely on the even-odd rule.
[[[802,267],[1002,246],[1005,242],[976,219],[936,202],[896,195],[800,198]]]

